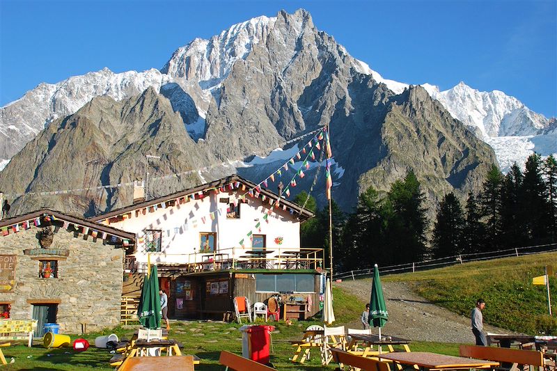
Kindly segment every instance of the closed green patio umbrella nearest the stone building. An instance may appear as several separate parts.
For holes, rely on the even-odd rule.
[[[137,317],[147,329],[159,329],[161,326],[161,298],[156,265],[152,265],[150,274],[143,278]]]

